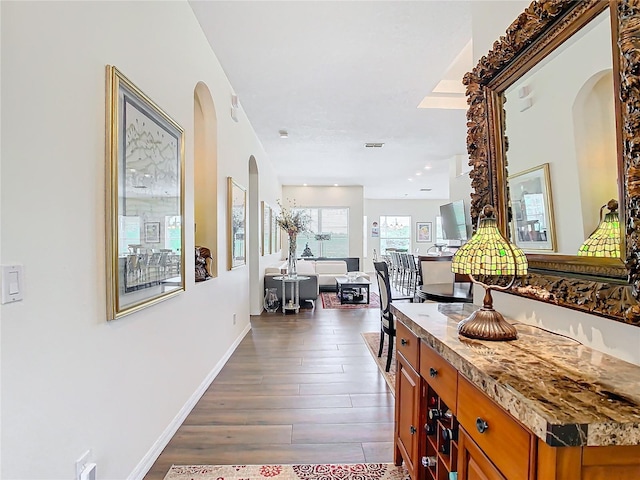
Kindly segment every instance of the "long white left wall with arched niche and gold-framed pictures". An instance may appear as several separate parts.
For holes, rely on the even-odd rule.
[[[227,256],[226,177],[267,201],[279,186],[186,2],[2,2],[2,264],[24,265],[24,300],[3,305],[2,478],[69,479],[92,448],[99,478],[138,478],[249,328],[248,268],[105,320],[105,65],[185,129],[185,224],[193,225],[193,91],[218,118],[218,252]],[[264,182],[264,185],[263,185]],[[264,259],[263,261],[266,261]],[[237,314],[237,324],[232,316]],[[158,442],[158,443],[155,443]]]

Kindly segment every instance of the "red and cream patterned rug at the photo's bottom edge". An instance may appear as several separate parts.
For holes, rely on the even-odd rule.
[[[410,480],[392,463],[350,465],[174,465],[164,480]]]

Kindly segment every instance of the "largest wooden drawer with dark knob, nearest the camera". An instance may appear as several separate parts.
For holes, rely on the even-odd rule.
[[[505,477],[509,480],[529,478],[533,453],[531,434],[462,376],[458,378],[457,417]]]

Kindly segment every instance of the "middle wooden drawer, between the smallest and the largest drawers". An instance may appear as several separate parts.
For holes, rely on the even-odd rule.
[[[424,342],[420,342],[420,375],[456,415],[458,372]]]

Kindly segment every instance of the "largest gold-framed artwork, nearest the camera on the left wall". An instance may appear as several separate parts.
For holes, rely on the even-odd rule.
[[[107,318],[184,291],[184,131],[106,67]]]

